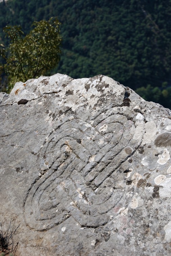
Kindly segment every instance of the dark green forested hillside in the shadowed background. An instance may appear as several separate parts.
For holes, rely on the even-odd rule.
[[[171,108],[171,0],[9,0],[2,28],[57,16],[62,56],[53,72],[73,78],[103,74]]]

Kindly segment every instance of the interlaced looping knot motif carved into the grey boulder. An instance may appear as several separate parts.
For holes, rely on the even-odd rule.
[[[91,122],[72,119],[53,129],[40,150],[44,174],[25,198],[28,226],[41,231],[70,216],[83,227],[106,224],[124,195],[113,188],[116,170],[135,153],[143,135],[144,121],[111,110]]]

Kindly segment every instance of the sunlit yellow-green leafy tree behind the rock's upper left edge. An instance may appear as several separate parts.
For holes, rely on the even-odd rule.
[[[60,60],[60,23],[56,18],[49,21],[35,21],[33,29],[24,36],[21,26],[6,26],[4,31],[10,39],[5,49],[1,45],[0,55],[5,63],[1,65],[8,75],[8,91],[21,80],[45,75],[55,68]]]

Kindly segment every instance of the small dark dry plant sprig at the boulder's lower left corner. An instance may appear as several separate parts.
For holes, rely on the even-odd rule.
[[[14,247],[13,236],[16,233],[16,230],[19,228],[19,226],[20,224],[17,228],[15,228],[15,223],[12,225],[10,220],[10,223],[6,231],[3,233],[2,224],[0,222],[0,252],[2,252],[0,256],[15,256],[18,243]]]

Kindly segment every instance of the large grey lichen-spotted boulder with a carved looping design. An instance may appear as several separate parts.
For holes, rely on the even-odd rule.
[[[0,221],[16,255],[170,255],[171,111],[56,74],[0,99]]]

